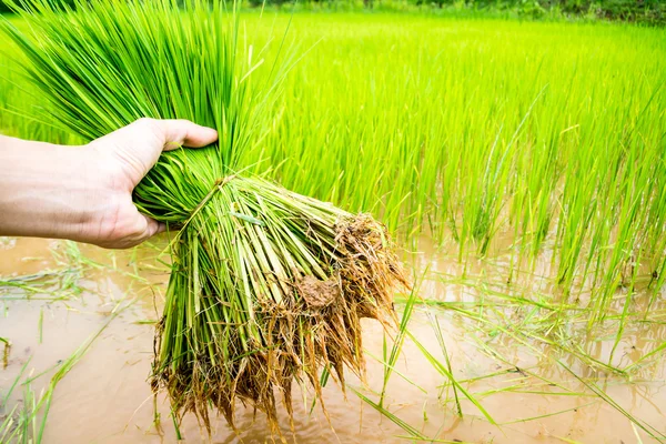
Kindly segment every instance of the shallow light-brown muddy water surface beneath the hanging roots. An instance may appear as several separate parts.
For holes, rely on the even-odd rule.
[[[109,323],[82,360],[58,384],[43,442],[175,442],[168,403],[163,397],[157,402],[161,426],[155,425],[153,397],[147,383],[153,340],[153,326],[148,322],[158,317],[161,294],[168,280],[164,269],[155,260],[157,250],[144,248],[134,253],[110,253],[82,245],[83,258],[104,265],[98,268],[87,265],[80,259],[56,260],[52,249],[63,251],[64,245],[33,239],[3,239],[0,242],[0,276],[16,279],[36,273],[58,275],[69,270],[82,289],[80,292],[75,289],[70,291],[62,301],[44,300],[52,297],[48,292],[33,294],[27,300],[24,290],[0,289],[0,297],[3,297],[3,304],[0,302],[0,336],[12,342],[7,369],[0,370],[0,395],[28,360],[28,369],[34,374],[57,367],[60,361],[67,360],[92,333],[99,331],[114,310],[135,300]],[[427,265],[431,271],[447,275],[461,272],[456,261],[427,246],[422,246],[422,252],[414,254],[413,261],[418,270]],[[488,265],[480,263],[475,266],[483,269]],[[49,289],[53,286],[58,284]],[[465,290],[463,285],[443,283],[437,279],[424,283],[422,295],[450,302],[480,297],[480,294]],[[528,347],[511,339],[503,337],[493,343],[492,336],[477,334],[477,327],[451,311],[420,307],[412,320],[411,331],[435,357],[443,361],[432,326],[434,316],[443,332],[455,377],[458,381],[478,379],[465,382],[463,386],[476,393],[494,420],[504,425],[492,425],[467,401],[461,401],[464,416],[458,417],[451,386],[443,387],[445,379],[407,341],[396,366],[400,374],[392,376],[385,405],[424,435],[448,442],[473,443],[637,442],[636,432],[622,413],[592,395],[553,360],[537,357]],[[618,360],[624,360],[626,365],[664,343],[666,331],[663,324],[650,323],[627,332],[615,352]],[[584,346],[591,355],[603,361],[608,359],[614,335],[587,342]],[[487,352],[483,344],[491,344],[494,352]],[[381,355],[382,332],[373,322],[364,325],[364,345],[369,354]],[[559,357],[575,367],[567,356]],[[48,384],[53,371],[33,383],[38,393],[40,387]],[[410,381],[401,377],[401,374]],[[481,379],[491,374],[494,376]],[[666,433],[666,366],[663,363],[650,366],[630,384],[603,371],[594,375],[589,371],[582,371],[581,374],[584,377],[594,376],[586,381],[594,381],[629,414]],[[547,382],[533,375],[539,375]],[[355,380],[349,381],[349,384],[360,387],[366,396],[376,401],[382,379],[382,365],[369,357],[367,387],[363,389]],[[564,390],[586,392],[586,395],[556,394]],[[12,402],[22,402],[20,392],[14,393]],[[405,441],[400,437],[405,435],[403,430],[367,404],[363,405],[353,393],[347,393],[345,400],[335,384],[330,384],[324,391],[330,423],[319,407],[310,411],[310,393],[303,398],[301,391],[296,390],[294,400],[301,400],[295,405],[297,442]],[[2,414],[0,412],[0,418]],[[290,437],[284,416],[282,424]],[[238,426],[245,443],[271,441],[262,415],[255,417],[251,408],[239,407]],[[201,434],[193,417],[185,418],[181,432],[186,442],[209,440]],[[645,433],[638,434],[643,442],[652,442]],[[223,421],[218,421],[210,441],[234,443],[240,438]]]

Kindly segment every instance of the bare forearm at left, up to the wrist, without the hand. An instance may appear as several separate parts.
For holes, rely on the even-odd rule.
[[[0,235],[84,235],[99,204],[87,159],[83,147],[0,135]]]

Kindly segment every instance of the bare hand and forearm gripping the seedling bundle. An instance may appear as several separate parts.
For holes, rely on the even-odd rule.
[[[164,230],[132,191],[162,151],[205,147],[215,130],[186,120],[140,119],[87,145],[0,135],[0,235],[69,239],[110,249]]]

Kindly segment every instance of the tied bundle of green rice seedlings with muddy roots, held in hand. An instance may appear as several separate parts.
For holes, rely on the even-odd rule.
[[[372,216],[238,173],[286,63],[251,82],[261,61],[241,48],[236,8],[93,0],[63,12],[30,0],[20,13],[29,31],[3,28],[69,130],[91,140],[151,117],[220,134],[215,145],[164,153],[134,190],[143,213],[178,230],[154,391],[209,428],[209,406],[233,426],[236,400],[275,427],[275,394],[291,415],[294,381],[321,396],[323,369],[343,387],[345,367],[362,376],[360,319],[392,323],[393,287],[406,281]]]

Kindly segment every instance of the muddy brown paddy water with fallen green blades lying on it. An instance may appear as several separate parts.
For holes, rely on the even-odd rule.
[[[154,402],[147,382],[153,323],[168,280],[167,268],[158,260],[159,246],[164,243],[128,252],[34,239],[6,238],[0,245],[0,337],[11,342],[0,371],[2,396],[17,379],[21,384],[38,376],[30,386],[39,398],[63,363],[101,332],[56,385],[43,442],[175,442],[168,402],[162,396]],[[407,337],[387,384],[386,411],[434,442],[657,441],[630,418],[657,437],[666,433],[666,365],[649,356],[640,361],[666,341],[663,301],[653,303],[652,315],[644,322],[625,324],[615,351],[617,325],[613,321],[606,322],[606,331],[597,329],[586,337],[571,316],[571,325],[562,330],[571,337],[561,341],[556,323],[551,324],[548,335],[539,331],[538,322],[529,320],[534,305],[525,304],[524,310],[517,296],[508,296],[506,285],[505,295],[496,294],[491,271],[502,266],[502,258],[468,261],[463,266],[428,249],[426,241],[421,249],[423,252],[407,259],[416,276],[427,270],[420,287],[424,301],[417,302],[408,327],[437,362],[445,363],[445,345],[452,376],[460,385],[454,390],[456,385],[442,372],[448,367],[434,365]],[[536,282],[534,279],[529,290],[533,294],[539,291]],[[398,302],[404,297],[397,295]],[[642,312],[648,300],[637,295],[632,310]],[[398,313],[403,307],[396,304]],[[539,319],[543,322],[544,316]],[[435,334],[437,325],[441,337]],[[324,391],[329,418],[319,405],[312,408],[312,393],[294,389],[297,442],[414,441],[404,427],[350,390],[379,402],[385,371],[379,362],[383,341],[381,327],[366,322],[366,385],[350,379],[345,398],[330,381]],[[391,339],[387,344],[392,346]],[[637,362],[640,365],[633,369]],[[461,394],[461,387],[496,424]],[[18,421],[18,412],[29,400],[24,385],[18,385],[0,412],[0,423],[12,414],[13,406]],[[218,421],[211,442],[271,442],[261,413],[254,415],[251,407],[239,406],[236,418],[238,435]],[[284,437],[292,441],[286,414],[281,425]],[[186,442],[209,440],[191,415],[185,416],[180,433]]]

